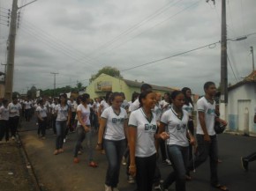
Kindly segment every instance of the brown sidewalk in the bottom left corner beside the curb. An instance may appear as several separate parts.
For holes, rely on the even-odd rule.
[[[26,152],[18,141],[0,143],[1,191],[38,191]]]

